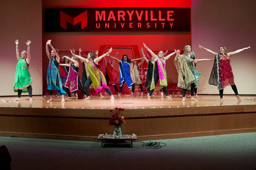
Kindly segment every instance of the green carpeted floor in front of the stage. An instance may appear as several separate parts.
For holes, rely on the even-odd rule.
[[[256,168],[256,133],[156,142],[166,146],[146,149],[134,142],[133,148],[126,147],[128,143],[101,148],[101,142],[0,137],[0,145],[6,145],[12,156],[14,170]]]

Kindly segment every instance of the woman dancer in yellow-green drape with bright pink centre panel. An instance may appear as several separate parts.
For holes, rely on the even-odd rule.
[[[171,98],[171,97],[168,96],[165,62],[166,62],[166,60],[168,60],[172,55],[174,55],[179,50],[178,51],[175,50],[175,52],[167,55],[166,57],[163,57],[163,54],[164,54],[163,51],[159,51],[158,55],[156,55],[151,49],[149,49],[146,46],[146,44],[144,44],[144,47],[154,57],[154,61],[155,61],[154,66],[153,66],[153,78],[152,78],[152,82],[151,82],[151,86],[150,86],[150,92],[149,92],[148,99],[150,99],[155,87],[158,86],[158,80],[159,80],[159,84],[160,84],[158,86],[158,89],[160,90],[161,88],[163,88],[163,90],[165,92],[165,95],[166,95],[166,98]],[[156,90],[156,91],[158,91],[158,90]]]

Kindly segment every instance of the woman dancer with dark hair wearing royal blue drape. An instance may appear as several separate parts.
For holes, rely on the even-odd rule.
[[[133,84],[131,73],[130,73],[130,63],[137,60],[142,60],[143,58],[129,59],[126,54],[123,55],[122,60],[110,56],[119,63],[119,78],[120,78],[120,96],[122,96],[123,85],[127,84],[128,88],[132,88],[133,96],[136,96],[135,85]]]

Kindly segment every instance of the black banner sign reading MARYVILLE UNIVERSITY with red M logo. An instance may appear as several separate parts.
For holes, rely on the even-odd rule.
[[[45,32],[190,32],[190,8],[47,8]]]

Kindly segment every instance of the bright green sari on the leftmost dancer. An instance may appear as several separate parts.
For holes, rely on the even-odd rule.
[[[27,87],[32,84],[32,78],[28,71],[27,63],[24,59],[20,58],[16,66],[15,79],[13,83],[14,92],[22,90],[22,93],[27,93]]]

